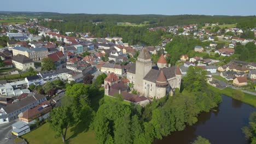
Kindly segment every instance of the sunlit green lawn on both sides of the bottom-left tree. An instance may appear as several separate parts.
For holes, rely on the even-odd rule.
[[[55,133],[51,130],[49,123],[41,125],[39,128],[22,136],[30,144],[59,144],[62,143],[61,137],[55,138]],[[97,143],[94,131],[85,131],[83,125],[69,128],[66,136],[67,143]]]

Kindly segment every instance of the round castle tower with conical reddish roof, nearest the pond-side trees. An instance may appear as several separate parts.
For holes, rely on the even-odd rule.
[[[166,80],[164,72],[160,70],[158,79],[156,79],[156,98],[157,99],[165,97],[167,85],[168,85],[168,82]]]

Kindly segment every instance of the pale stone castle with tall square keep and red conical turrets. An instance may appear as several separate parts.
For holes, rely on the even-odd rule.
[[[127,70],[127,79],[133,83],[133,89],[140,95],[152,99],[172,95],[175,88],[181,87],[182,74],[178,67],[167,67],[164,55],[161,55],[157,66],[152,67],[149,51],[144,47],[136,63]]]

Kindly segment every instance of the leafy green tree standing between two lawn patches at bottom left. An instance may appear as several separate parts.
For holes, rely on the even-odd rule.
[[[51,129],[55,131],[56,137],[62,137],[62,142],[66,141],[67,129],[75,124],[71,106],[65,105],[56,107],[50,113],[49,123]]]

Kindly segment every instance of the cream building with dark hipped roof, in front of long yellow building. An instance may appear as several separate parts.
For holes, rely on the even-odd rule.
[[[26,57],[25,55],[15,55],[13,56],[13,66],[22,71],[28,70],[31,68],[34,69],[34,62],[32,59]]]

